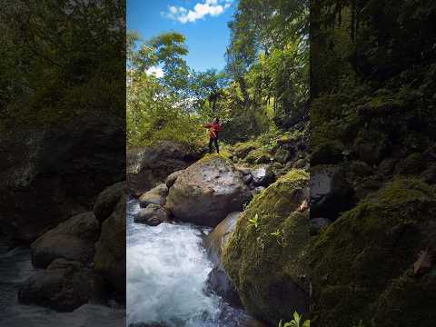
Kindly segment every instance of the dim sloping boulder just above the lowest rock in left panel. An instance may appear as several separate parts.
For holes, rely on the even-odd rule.
[[[57,258],[91,263],[99,232],[93,212],[77,214],[32,243],[32,263],[39,268],[45,268]]]

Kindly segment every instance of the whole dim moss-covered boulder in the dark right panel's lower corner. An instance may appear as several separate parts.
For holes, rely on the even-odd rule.
[[[433,326],[436,269],[413,276],[412,267],[421,250],[436,249],[435,215],[434,189],[404,178],[342,213],[308,251],[312,321],[335,327],[361,320],[365,326]]]

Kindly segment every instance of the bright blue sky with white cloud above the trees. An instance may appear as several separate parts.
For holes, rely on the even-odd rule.
[[[176,31],[186,36],[187,63],[197,71],[223,69],[227,22],[237,0],[127,0],[127,29],[144,39]]]

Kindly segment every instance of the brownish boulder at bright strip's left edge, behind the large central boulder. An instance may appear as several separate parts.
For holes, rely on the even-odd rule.
[[[189,166],[199,158],[198,153],[185,145],[160,141],[152,146],[127,151],[127,190],[139,196],[175,171]]]

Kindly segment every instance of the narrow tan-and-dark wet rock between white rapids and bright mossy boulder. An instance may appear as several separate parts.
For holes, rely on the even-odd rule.
[[[229,275],[223,269],[221,255],[241,216],[240,212],[229,213],[223,222],[219,223],[211,233],[204,238],[204,247],[213,262],[213,269],[206,281],[206,292],[213,292],[221,296],[226,302],[240,306],[238,292]]]

